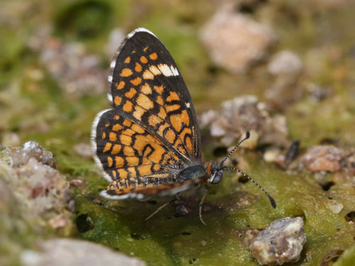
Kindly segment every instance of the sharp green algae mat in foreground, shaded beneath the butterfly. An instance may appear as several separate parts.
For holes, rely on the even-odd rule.
[[[300,262],[293,265],[320,265],[330,251],[345,250],[354,243],[355,228],[344,218],[355,200],[354,193],[344,198],[349,186],[335,185],[324,192],[310,176],[285,174],[257,162],[255,155],[247,157],[253,161],[247,172],[273,195],[276,209],[253,184],[240,184],[232,174],[226,174],[207,196],[207,204],[212,204],[212,211],[203,216],[207,226],[197,215],[198,201],[193,202],[190,216],[176,217],[169,206],[144,222],[169,199],[156,199],[158,204],[106,200],[98,204],[91,199],[95,194],[92,187],[87,196],[76,199],[77,211],[89,216],[94,226],[81,237],[133,253],[148,265],[257,265],[244,238],[236,232],[265,228],[285,216],[301,216],[305,221],[307,242]],[[102,189],[102,182],[97,187]],[[243,198],[251,203],[240,206]],[[344,206],[339,214],[329,208],[334,202]]]

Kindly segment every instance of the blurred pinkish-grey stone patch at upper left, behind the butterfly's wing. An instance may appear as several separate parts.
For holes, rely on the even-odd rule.
[[[82,43],[65,43],[52,36],[49,26],[43,26],[28,45],[40,53],[43,67],[67,94],[98,95],[107,91],[107,70],[102,68],[101,57],[87,52]],[[41,70],[33,72],[33,78],[38,77],[43,77]]]

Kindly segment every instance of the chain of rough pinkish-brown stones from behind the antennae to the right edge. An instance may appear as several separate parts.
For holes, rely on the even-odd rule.
[[[314,145],[299,154],[302,143],[292,143],[288,138],[285,116],[272,116],[267,105],[259,102],[256,96],[239,96],[224,101],[222,111],[202,113],[200,124],[209,127],[212,137],[220,138],[221,143],[228,147],[243,138],[246,131],[250,131],[250,138],[242,143],[242,148],[266,146],[263,150],[266,162],[297,172],[313,172],[321,185],[329,182],[326,173],[343,172],[346,176],[355,173],[355,150],[351,148],[346,150],[335,145]]]

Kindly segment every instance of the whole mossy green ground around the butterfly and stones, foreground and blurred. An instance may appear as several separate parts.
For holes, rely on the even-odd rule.
[[[223,181],[211,187],[207,196],[206,204],[211,208],[203,215],[207,226],[200,222],[195,199],[190,202],[190,216],[176,217],[175,208],[168,206],[143,221],[171,198],[143,202],[102,199],[99,192],[107,182],[100,178],[93,160],[75,153],[77,143],[89,143],[94,116],[108,108],[107,96],[73,97],[62,91],[40,64],[38,53],[28,48],[28,40],[38,26],[48,24],[61,40],[82,43],[89,52],[104,58],[102,69],[109,67],[104,46],[113,28],[126,33],[138,26],[148,28],[165,43],[178,63],[199,114],[218,110],[222,101],[242,94],[256,94],[264,100],[263,92],[274,82],[274,77],[267,74],[266,63],[232,75],[209,60],[199,31],[217,9],[215,4],[156,0],[50,4],[44,0],[1,1],[1,14],[11,16],[10,20],[0,21],[1,140],[8,133],[16,133],[21,144],[36,140],[53,152],[61,174],[68,180],[85,182],[84,187],[73,189],[76,217],[81,218],[76,220],[78,231],[72,237],[102,243],[139,257],[147,265],[258,265],[244,243],[245,231],[265,228],[286,216],[301,216],[307,236],[300,261],[290,265],[355,265],[355,226],[346,219],[349,212],[355,211],[354,184],[339,182],[324,191],[312,174],[288,174],[263,162],[256,151],[241,153],[239,156],[247,162],[242,170],[275,198],[276,209],[251,182],[238,182],[236,175],[225,173]],[[301,140],[302,150],[329,141],[340,148],[355,148],[355,3],[327,5],[322,1],[267,1],[250,13],[258,21],[268,21],[278,34],[272,52],[293,50],[305,65],[300,77],[305,93],[292,104],[280,106],[280,112],[287,117],[290,139]],[[43,78],[31,79],[31,70],[39,70]],[[310,84],[331,88],[332,94],[322,101],[312,101],[306,89]],[[202,145],[204,154],[217,160],[212,150],[218,140],[211,140],[208,131],[203,132],[203,139],[208,140]],[[334,214],[329,208],[332,204],[342,204],[343,208]],[[4,224],[18,219],[13,212],[3,217]],[[354,218],[350,221],[354,222]],[[18,265],[18,255],[28,248],[28,242],[53,236],[38,235],[30,229],[18,233],[0,228],[4,228],[0,238],[16,243],[0,245],[0,256],[10,257],[11,265]]]

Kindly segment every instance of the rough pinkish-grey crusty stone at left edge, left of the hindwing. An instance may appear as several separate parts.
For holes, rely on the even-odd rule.
[[[2,182],[18,202],[21,216],[36,232],[52,228],[63,235],[74,229],[69,206],[70,184],[55,170],[52,153],[35,141],[21,148],[8,147],[1,152]]]

